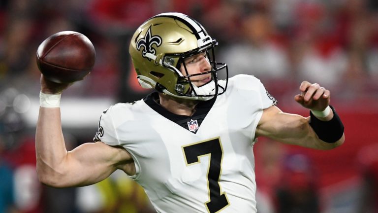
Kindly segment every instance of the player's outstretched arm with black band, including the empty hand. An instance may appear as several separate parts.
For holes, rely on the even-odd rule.
[[[315,149],[332,149],[343,144],[344,126],[336,111],[329,107],[329,90],[319,84],[303,81],[300,91],[295,101],[311,109],[311,116],[289,114],[277,106],[271,106],[264,109],[255,137],[265,136],[275,141]]]

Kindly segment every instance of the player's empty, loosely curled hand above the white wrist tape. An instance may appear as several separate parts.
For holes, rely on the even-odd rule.
[[[323,111],[330,102],[330,92],[318,83],[303,81],[299,87],[300,95],[294,97],[295,101],[303,107]]]

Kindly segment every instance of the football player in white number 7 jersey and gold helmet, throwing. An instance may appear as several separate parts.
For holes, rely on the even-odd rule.
[[[68,85],[41,76],[37,171],[45,184],[83,186],[123,170],[159,213],[255,213],[253,144],[260,136],[315,149],[344,142],[330,91],[302,82],[295,101],[310,116],[281,111],[259,79],[215,60],[217,41],[195,20],[162,13],[132,36],[129,53],[142,100],[110,106],[94,143],[67,152],[60,94]]]

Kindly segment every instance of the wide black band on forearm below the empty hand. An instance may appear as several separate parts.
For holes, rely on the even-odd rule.
[[[333,118],[329,121],[322,121],[315,117],[310,111],[310,126],[314,129],[320,140],[328,143],[339,141],[344,134],[344,125],[337,115],[335,109],[330,106],[333,111]]]

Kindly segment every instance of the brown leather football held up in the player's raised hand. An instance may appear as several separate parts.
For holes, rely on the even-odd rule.
[[[95,47],[81,33],[63,31],[46,38],[37,49],[37,66],[55,83],[82,80],[95,65]]]

